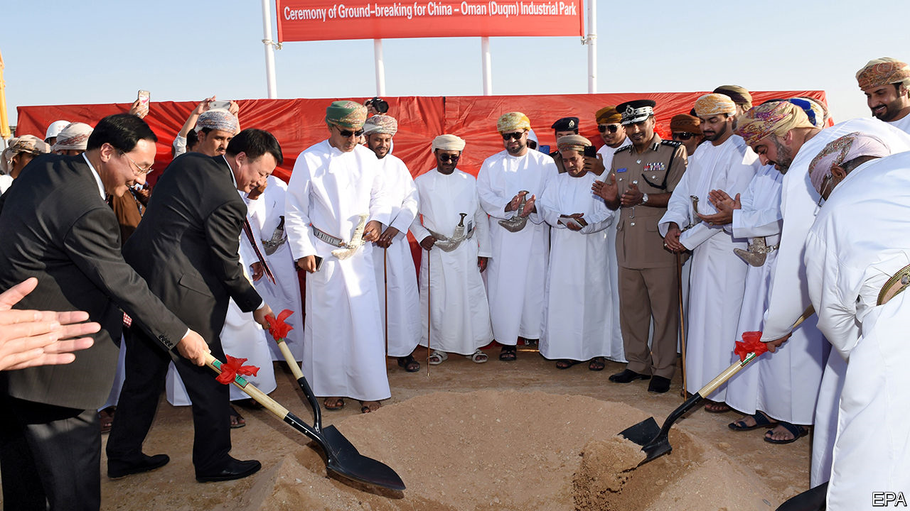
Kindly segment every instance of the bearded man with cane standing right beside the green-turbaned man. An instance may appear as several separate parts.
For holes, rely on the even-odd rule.
[[[384,332],[389,356],[398,358],[399,367],[409,373],[420,371],[413,351],[420,341],[420,296],[417,272],[410,253],[408,228],[417,216],[417,188],[407,165],[389,154],[398,121],[391,115],[373,115],[363,125],[367,146],[379,158],[382,185],[389,196],[391,224],[379,235],[373,254],[379,308],[383,311]],[[387,299],[388,296],[388,299]]]

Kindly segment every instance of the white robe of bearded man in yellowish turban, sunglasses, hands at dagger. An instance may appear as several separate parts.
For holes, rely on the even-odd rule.
[[[477,175],[480,205],[490,215],[492,257],[487,267],[487,294],[493,336],[502,345],[515,346],[518,337],[539,339],[543,313],[543,285],[550,257],[550,226],[531,213],[521,231],[511,233],[498,220],[514,211],[505,206],[522,190],[540,198],[559,171],[553,158],[529,150],[523,156],[501,151],[484,160]]]

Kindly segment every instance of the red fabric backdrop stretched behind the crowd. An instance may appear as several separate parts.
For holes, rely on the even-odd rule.
[[[477,175],[484,158],[502,150],[502,139],[496,132],[496,119],[506,112],[521,111],[531,118],[541,144],[555,145],[550,126],[561,117],[581,119],[581,135],[602,145],[594,124],[594,112],[605,105],[617,105],[637,98],[657,102],[657,130],[670,133],[670,118],[688,113],[695,100],[704,93],[621,93],[594,95],[460,95],[445,97],[402,96],[385,98],[389,114],[399,120],[394,154],[408,164],[412,175],[420,175],[435,166],[430,155],[430,142],[436,135],[451,133],[467,140],[459,168]],[[810,96],[825,101],[824,91],[753,92],[755,104],[773,97]],[[308,146],[328,136],[324,122],[325,109],[331,101],[322,99],[247,99],[239,100],[241,127],[267,129],[278,137],[284,152],[284,165],[276,175],[287,180],[297,155]],[[363,102],[366,98],[354,98]],[[158,136],[155,168],[170,163],[170,145],[186,121],[193,102],[153,102],[146,117]],[[128,104],[20,106],[17,135],[44,138],[47,125],[57,119],[95,125],[105,115],[126,112]],[[154,179],[154,176],[153,176]]]

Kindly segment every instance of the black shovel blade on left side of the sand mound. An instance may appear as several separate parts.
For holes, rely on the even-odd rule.
[[[329,458],[329,470],[361,483],[403,491],[404,482],[388,465],[361,455],[335,426],[322,428],[321,446]]]

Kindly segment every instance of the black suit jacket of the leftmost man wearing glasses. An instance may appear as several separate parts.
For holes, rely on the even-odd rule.
[[[38,278],[16,308],[85,310],[101,324],[95,345],[76,353],[76,362],[5,373],[10,396],[103,405],[116,373],[121,308],[167,348],[187,331],[124,261],[116,215],[82,155],[42,155],[25,167],[0,199],[0,240],[0,289]]]

